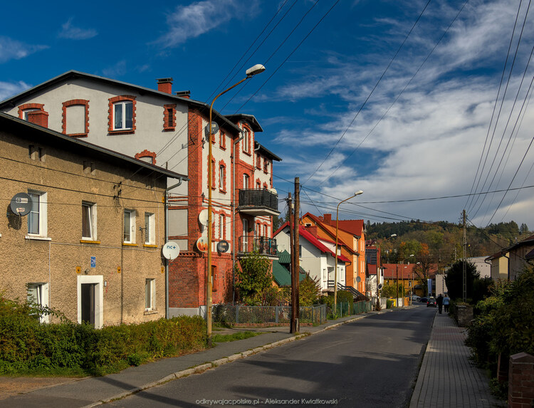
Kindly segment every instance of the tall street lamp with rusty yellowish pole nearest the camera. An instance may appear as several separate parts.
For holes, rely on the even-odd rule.
[[[265,67],[261,64],[256,64],[255,66],[248,68],[246,70],[245,74],[246,77],[240,80],[238,83],[235,83],[234,85],[231,85],[230,88],[223,90],[219,95],[217,95],[214,100],[211,101],[211,105],[209,105],[209,125],[208,125],[208,262],[207,262],[207,268],[206,268],[206,332],[207,332],[207,340],[208,345],[211,346],[211,240],[212,232],[211,232],[211,172],[213,171],[211,169],[211,135],[214,133],[211,129],[211,114],[213,112],[213,105],[215,103],[215,100],[219,98],[219,96],[224,95],[229,90],[235,88],[240,83],[244,82],[248,78],[252,78],[254,75],[258,73],[262,73],[265,70]],[[235,194],[232,193],[235,197]],[[232,239],[235,239],[235,236],[232,237]]]

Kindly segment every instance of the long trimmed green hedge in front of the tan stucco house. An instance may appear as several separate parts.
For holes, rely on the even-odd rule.
[[[68,321],[41,324],[36,313],[31,303],[0,296],[0,374],[105,375],[201,350],[206,342],[199,316],[96,330]]]

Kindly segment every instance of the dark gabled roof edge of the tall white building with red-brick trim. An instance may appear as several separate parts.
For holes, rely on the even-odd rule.
[[[110,78],[105,78],[105,77],[102,77],[102,76],[99,76],[99,75],[93,75],[93,74],[90,74],[90,73],[83,73],[83,72],[80,72],[80,71],[77,71],[77,70],[68,70],[66,73],[62,73],[61,75],[58,75],[55,78],[49,79],[49,80],[47,80],[47,81],[45,81],[45,82],[43,82],[43,83],[41,83],[39,85],[34,86],[33,88],[24,90],[23,92],[21,92],[21,93],[19,93],[17,95],[14,95],[11,98],[7,98],[6,100],[3,100],[0,103],[0,109],[14,108],[16,105],[18,105],[18,103],[17,103],[18,100],[21,100],[22,98],[26,98],[29,95],[33,95],[35,93],[39,93],[43,89],[46,89],[46,88],[48,88],[48,87],[50,87],[52,85],[56,85],[58,83],[63,83],[64,81],[66,81],[68,79],[72,79],[72,78],[85,78],[85,79],[88,79],[88,80],[95,80],[95,81],[98,81],[100,83],[107,83],[109,85],[120,85],[122,87],[130,88],[132,90],[135,90],[135,91],[139,92],[141,95],[152,94],[152,95],[157,95],[159,97],[163,96],[165,98],[169,98],[170,100],[179,100],[181,103],[185,103],[187,105],[194,105],[196,108],[205,108],[206,109],[205,110],[206,115],[209,115],[209,105],[204,103],[204,102],[200,102],[198,100],[192,100],[192,99],[189,99],[189,98],[183,98],[183,97],[178,96],[178,95],[172,95],[171,93],[166,93],[166,92],[162,92],[162,91],[151,89],[151,88],[145,88],[145,87],[139,86],[139,85],[133,85],[131,83],[122,82],[120,80],[114,80],[114,79],[110,79]],[[239,128],[239,126],[235,125],[234,122],[231,122],[231,120],[227,119],[224,115],[221,115],[216,110],[213,110],[213,113],[214,113],[216,118],[218,118],[219,120],[224,121],[224,123],[227,126],[233,127],[234,130],[236,130],[237,132],[241,132],[241,129]],[[219,125],[221,125],[221,124],[219,123]]]

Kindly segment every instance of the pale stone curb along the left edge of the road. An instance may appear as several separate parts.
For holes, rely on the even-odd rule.
[[[388,310],[390,310],[390,309],[388,309]],[[379,313],[384,313],[384,312],[379,312]],[[326,328],[318,330],[315,333],[306,333],[306,334],[295,335],[295,336],[293,336],[291,338],[278,340],[276,342],[268,343],[266,345],[253,348],[252,350],[246,350],[244,352],[238,352],[238,353],[236,353],[234,355],[231,355],[229,357],[219,358],[218,360],[214,360],[214,361],[211,361],[211,362],[206,362],[206,363],[204,363],[202,365],[197,365],[195,367],[191,367],[191,368],[188,368],[186,370],[177,371],[177,372],[174,372],[174,373],[172,373],[170,375],[167,375],[167,376],[165,376],[165,377],[163,377],[163,378],[161,378],[159,380],[150,382],[150,383],[148,383],[146,385],[142,385],[141,387],[135,387],[135,388],[132,388],[132,389],[128,389],[127,391],[120,392],[120,394],[116,394],[116,395],[114,395],[113,397],[110,397],[110,398],[100,399],[100,400],[98,400],[96,402],[93,402],[92,404],[85,405],[85,407],[83,407],[83,408],[92,408],[92,407],[98,407],[99,405],[102,405],[102,404],[108,404],[109,402],[116,401],[117,399],[122,399],[122,398],[125,398],[125,397],[129,397],[132,394],[137,394],[137,392],[145,391],[145,389],[149,389],[149,388],[152,388],[152,387],[157,387],[158,385],[162,385],[162,384],[164,384],[166,382],[169,382],[169,381],[172,381],[172,380],[177,380],[177,379],[182,378],[182,377],[187,377],[189,375],[200,374],[201,372],[204,372],[206,370],[211,370],[212,368],[219,367],[219,366],[224,365],[226,363],[234,362],[236,360],[241,360],[242,358],[248,357],[250,355],[255,355],[255,354],[258,354],[259,352],[263,352],[263,351],[266,351],[266,350],[270,350],[271,348],[274,348],[274,347],[285,345],[288,342],[293,342],[293,341],[296,341],[296,340],[300,340],[302,338],[307,338],[310,335],[315,335],[317,333],[322,333],[325,330],[330,330],[330,329],[333,329],[333,328],[337,328],[337,327],[340,327],[341,325],[345,325],[347,323],[354,322],[355,320],[360,320],[360,319],[366,318],[367,316],[370,316],[370,315],[368,315],[368,314],[366,314],[366,315],[358,315],[355,318],[352,318],[352,319],[349,319],[349,320],[345,320],[345,321],[340,322],[340,323],[335,323],[335,324],[330,325],[330,326],[328,326]]]

